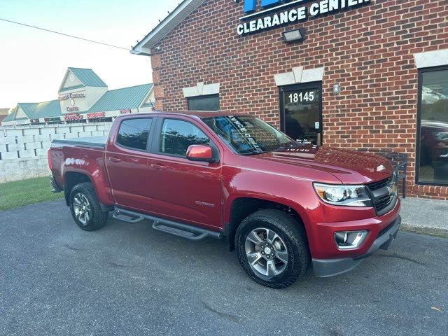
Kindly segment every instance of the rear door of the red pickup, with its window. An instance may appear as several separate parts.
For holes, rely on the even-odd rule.
[[[123,118],[115,130],[115,139],[108,140],[106,171],[113,199],[122,207],[139,211],[151,210],[148,140],[153,120],[142,117]]]

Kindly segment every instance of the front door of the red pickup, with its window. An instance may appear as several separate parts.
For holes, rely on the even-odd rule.
[[[187,118],[160,118],[149,158],[153,212],[204,228],[221,227],[221,162],[193,162],[188,146],[210,144],[207,130]]]

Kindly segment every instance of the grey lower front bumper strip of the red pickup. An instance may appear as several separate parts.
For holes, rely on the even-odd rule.
[[[391,242],[397,237],[398,229],[401,225],[401,217],[390,225],[386,232],[382,233],[374,240],[368,251],[363,255],[354,258],[339,258],[339,259],[313,259],[314,275],[319,277],[335,276],[346,273],[355,268],[364,258],[372,255],[379,248],[387,250]]]

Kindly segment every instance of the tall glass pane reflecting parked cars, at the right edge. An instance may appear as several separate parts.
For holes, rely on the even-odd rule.
[[[448,185],[448,66],[421,69],[416,183]]]

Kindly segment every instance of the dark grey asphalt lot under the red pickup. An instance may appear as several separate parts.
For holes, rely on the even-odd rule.
[[[0,335],[447,335],[448,239],[399,232],[348,274],[283,290],[224,241],[84,232],[63,200],[0,212]]]

